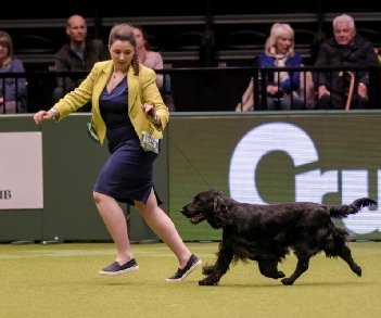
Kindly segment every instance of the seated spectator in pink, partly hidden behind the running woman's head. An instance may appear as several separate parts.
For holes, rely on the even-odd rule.
[[[147,34],[141,26],[134,26],[134,34],[137,41],[137,53],[139,63],[152,69],[163,69],[163,56],[160,52],[151,49]],[[175,111],[175,104],[172,96],[169,74],[156,74],[156,85],[163,96],[164,103],[169,111]]]

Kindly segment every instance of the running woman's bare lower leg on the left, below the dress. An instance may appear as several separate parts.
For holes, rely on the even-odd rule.
[[[115,245],[116,245],[116,262],[119,265],[126,264],[134,258],[131,247],[128,240],[126,217],[122,207],[115,199],[93,192],[93,198]]]

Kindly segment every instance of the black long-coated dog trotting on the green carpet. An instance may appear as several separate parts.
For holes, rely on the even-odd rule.
[[[350,205],[322,205],[312,202],[280,204],[249,204],[208,190],[199,193],[181,213],[192,224],[206,220],[213,228],[223,229],[223,240],[215,265],[203,267],[206,276],[200,285],[217,285],[231,262],[256,260],[262,275],[278,279],[285,285],[308,269],[309,258],[323,251],[327,256],[344,259],[357,276],[361,268],[353,260],[346,242],[346,231],[331,220],[355,214],[377,202],[363,198]],[[278,270],[290,250],[297,257],[295,271],[288,278]]]

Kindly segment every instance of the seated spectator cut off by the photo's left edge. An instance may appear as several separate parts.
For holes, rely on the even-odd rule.
[[[0,30],[0,72],[25,73],[24,64],[13,55],[11,36]],[[0,114],[27,112],[27,87],[25,78],[0,78]]]

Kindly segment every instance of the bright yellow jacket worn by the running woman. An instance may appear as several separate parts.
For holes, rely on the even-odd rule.
[[[106,126],[99,109],[99,99],[113,71],[111,60],[96,63],[86,79],[53,105],[54,109],[60,111],[60,117],[56,120],[63,119],[91,101],[92,122],[100,142],[103,143]],[[142,131],[150,132],[156,139],[162,139],[163,130],[169,120],[169,111],[163,102],[155,84],[155,77],[154,71],[141,64],[139,65],[139,76],[134,75],[132,67],[129,67],[127,73],[128,101],[126,102],[128,104],[128,116],[140,139]],[[141,109],[142,104],[150,102],[155,104],[156,114],[162,123],[161,129],[147,118]]]

